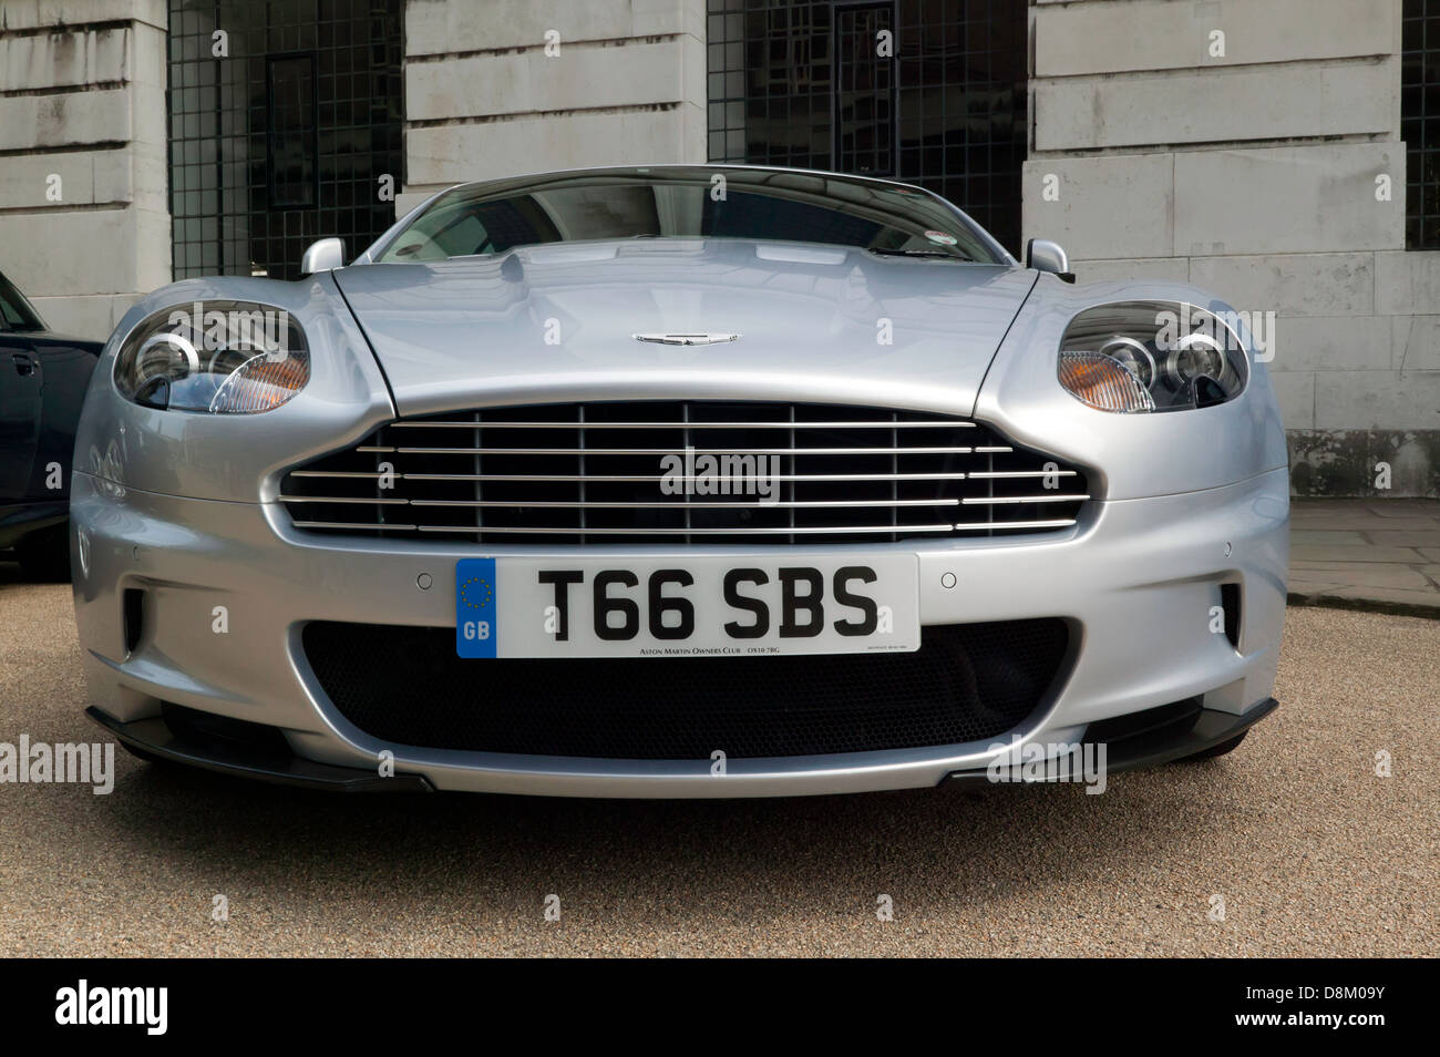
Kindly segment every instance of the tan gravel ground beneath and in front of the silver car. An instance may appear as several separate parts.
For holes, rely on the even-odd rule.
[[[0,955],[1433,956],[1437,658],[1440,622],[1292,609],[1276,716],[1103,796],[338,798],[117,752],[109,796],[0,785]],[[0,565],[0,742],[94,740],[82,707],[69,588]]]

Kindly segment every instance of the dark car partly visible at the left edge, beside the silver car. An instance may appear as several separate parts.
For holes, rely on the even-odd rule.
[[[36,579],[69,577],[75,423],[102,344],[48,330],[0,275],[0,550]]]

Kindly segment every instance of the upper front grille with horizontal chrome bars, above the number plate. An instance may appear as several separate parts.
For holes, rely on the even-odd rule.
[[[707,478],[707,456],[733,472]],[[289,471],[279,498],[315,533],[559,544],[1044,531],[1090,495],[1077,468],[968,419],[644,400],[399,419]]]

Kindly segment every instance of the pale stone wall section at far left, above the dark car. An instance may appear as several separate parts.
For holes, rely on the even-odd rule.
[[[0,7],[0,272],[105,338],[170,281],[164,0]]]

